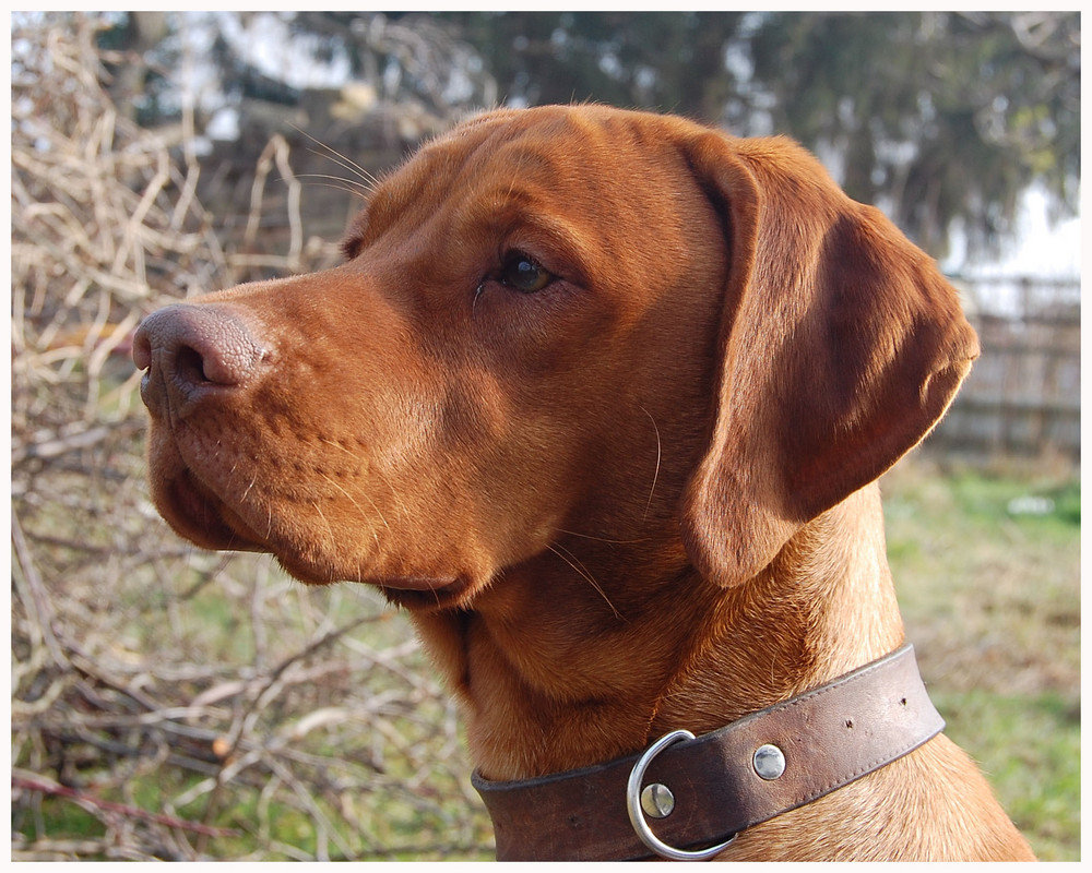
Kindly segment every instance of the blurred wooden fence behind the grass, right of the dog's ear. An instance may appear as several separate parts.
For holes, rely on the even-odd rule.
[[[1080,462],[1079,279],[953,279],[982,343],[930,451]]]

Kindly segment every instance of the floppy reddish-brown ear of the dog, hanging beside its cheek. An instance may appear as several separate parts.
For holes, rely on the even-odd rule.
[[[734,585],[917,444],[978,343],[931,260],[799,146],[710,133],[688,159],[731,267],[720,393],[681,526],[695,565]]]

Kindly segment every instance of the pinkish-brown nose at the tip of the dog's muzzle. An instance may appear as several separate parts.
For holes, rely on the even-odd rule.
[[[176,303],[153,312],[133,337],[145,370],[141,397],[154,414],[178,416],[202,399],[252,382],[270,348],[238,312],[218,303]]]

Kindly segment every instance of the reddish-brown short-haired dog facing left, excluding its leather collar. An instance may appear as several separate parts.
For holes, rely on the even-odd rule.
[[[490,112],[383,181],[344,252],[144,322],[152,491],[202,547],[405,607],[484,777],[713,731],[903,642],[875,480],[977,342],[806,152]],[[1030,857],[942,736],[722,854]]]

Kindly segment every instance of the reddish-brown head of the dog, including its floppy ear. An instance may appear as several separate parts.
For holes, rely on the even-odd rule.
[[[933,264],[806,153],[681,119],[487,113],[343,248],[145,321],[152,490],[201,546],[411,605],[573,535],[745,579],[976,355]]]

